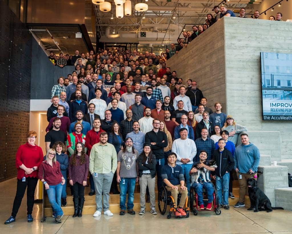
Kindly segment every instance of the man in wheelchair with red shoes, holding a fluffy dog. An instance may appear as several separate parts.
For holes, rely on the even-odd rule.
[[[200,155],[199,155],[199,162],[195,162],[192,166],[192,169],[190,170],[190,175],[192,173],[196,173],[198,172],[198,170],[200,168],[206,168],[209,171],[215,171],[214,167],[209,167],[207,166],[204,162],[206,161],[206,158],[208,156],[208,153],[204,150],[201,151]],[[208,195],[208,204],[206,206],[206,209],[211,210],[212,209],[212,201],[213,201],[213,192],[214,192],[214,188],[213,188],[213,184],[211,184],[211,179],[210,179],[210,174],[209,174],[209,178],[210,182],[205,181],[202,174],[200,174],[200,177],[198,179],[199,183],[197,184],[197,182],[195,181],[192,184],[192,187],[195,189],[197,195],[198,195],[198,206],[200,206],[200,209],[205,209],[204,208],[204,202],[203,202],[203,188],[206,189],[207,191],[207,195]]]

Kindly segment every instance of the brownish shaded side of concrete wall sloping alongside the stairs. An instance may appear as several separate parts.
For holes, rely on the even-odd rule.
[[[194,39],[187,48],[167,60],[171,71],[177,72],[186,84],[187,78],[196,80],[198,88],[207,97],[214,109],[214,102],[223,104],[226,111],[225,56],[223,21],[218,21],[210,30]]]

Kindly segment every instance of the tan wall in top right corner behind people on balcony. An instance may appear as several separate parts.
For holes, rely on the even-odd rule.
[[[260,11],[262,13],[263,11],[267,10],[267,8],[270,8],[274,4],[278,3],[279,1],[276,0],[264,0],[259,5],[253,5],[253,11]],[[281,6],[279,7],[278,4],[274,6],[274,11],[272,9],[266,11],[267,15],[261,14],[260,19],[268,20],[270,15],[274,15],[276,17],[277,12],[281,12],[283,15],[282,20],[286,21],[287,19],[292,19],[292,2],[291,1],[282,1]]]

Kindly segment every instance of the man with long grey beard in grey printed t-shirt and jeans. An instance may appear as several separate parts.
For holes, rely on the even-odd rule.
[[[125,148],[118,153],[117,181],[120,183],[120,215],[126,211],[126,194],[128,191],[127,210],[129,214],[135,214],[134,207],[134,190],[138,181],[137,158],[139,153],[133,147],[131,137],[125,139]]]

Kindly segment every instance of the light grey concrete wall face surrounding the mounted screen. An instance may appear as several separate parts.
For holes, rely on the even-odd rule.
[[[282,158],[291,158],[291,122],[262,120],[260,52],[292,53],[292,24],[227,17],[224,31],[227,113],[249,131],[280,131]]]

